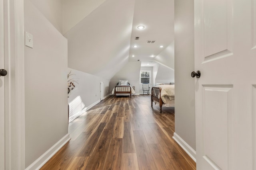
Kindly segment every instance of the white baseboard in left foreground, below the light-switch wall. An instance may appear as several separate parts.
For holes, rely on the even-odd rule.
[[[65,135],[60,141],[54,144],[50,149],[48,149],[42,156],[40,156],[35,162],[33,162],[28,168],[25,170],[39,170],[42,166],[52,158],[58,150],[61,149],[68,141],[70,140],[69,134]]]

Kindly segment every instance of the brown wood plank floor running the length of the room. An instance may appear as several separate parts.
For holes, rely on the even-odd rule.
[[[110,96],[69,124],[71,140],[41,170],[195,170],[172,139],[174,107]]]

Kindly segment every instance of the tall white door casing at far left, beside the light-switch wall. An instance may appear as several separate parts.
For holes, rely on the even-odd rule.
[[[24,0],[4,0],[6,169],[24,170]]]

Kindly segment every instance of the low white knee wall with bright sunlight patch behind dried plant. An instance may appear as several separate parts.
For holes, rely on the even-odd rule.
[[[104,97],[110,93],[110,80],[94,76],[85,72],[68,68],[68,72],[74,74],[70,78],[74,78],[75,88],[71,91],[68,104],[70,120],[84,113],[92,105],[100,102],[100,82],[104,82]],[[97,96],[96,96],[97,95]]]

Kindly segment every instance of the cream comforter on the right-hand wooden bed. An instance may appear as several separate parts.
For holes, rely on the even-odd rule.
[[[156,87],[162,88],[162,90],[161,90],[161,98],[162,98],[162,101],[164,103],[166,103],[166,101],[168,99],[169,100],[174,99],[174,85],[164,84],[164,85],[158,85]],[[160,96],[158,96],[158,97],[160,97]]]

